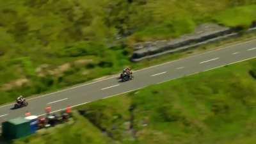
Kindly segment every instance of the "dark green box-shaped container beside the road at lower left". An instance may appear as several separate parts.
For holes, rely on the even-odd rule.
[[[15,118],[2,124],[3,137],[12,140],[31,134],[30,122],[25,118]]]

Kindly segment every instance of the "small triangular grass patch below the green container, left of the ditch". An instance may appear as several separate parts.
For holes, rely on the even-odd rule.
[[[79,144],[108,144],[111,140],[95,128],[86,118],[74,115],[74,124],[59,125],[54,129],[41,131],[31,138],[23,138],[15,141],[15,144],[36,143],[36,144],[61,144],[61,143],[79,143]],[[44,141],[42,141],[44,140]]]

